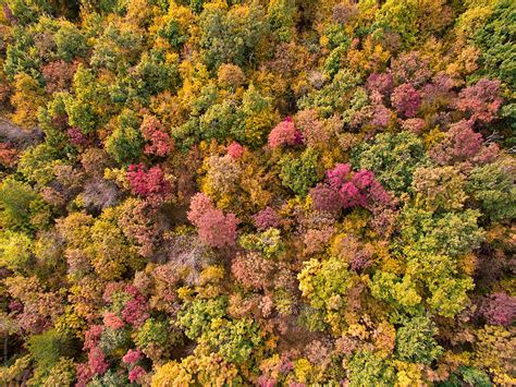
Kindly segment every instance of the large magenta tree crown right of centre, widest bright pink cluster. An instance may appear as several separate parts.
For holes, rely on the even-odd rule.
[[[342,208],[371,204],[388,205],[390,195],[368,170],[353,172],[348,164],[337,164],[327,171],[327,180],[310,191],[314,207],[335,213]]]

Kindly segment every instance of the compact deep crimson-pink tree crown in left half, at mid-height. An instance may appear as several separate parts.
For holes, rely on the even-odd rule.
[[[147,170],[143,164],[131,165],[126,177],[135,195],[164,199],[171,193],[171,185],[159,166]]]

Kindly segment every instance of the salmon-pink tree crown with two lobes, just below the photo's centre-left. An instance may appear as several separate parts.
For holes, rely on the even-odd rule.
[[[235,244],[238,219],[234,214],[224,215],[204,193],[192,197],[189,208],[188,220],[197,227],[202,243],[212,247]]]

